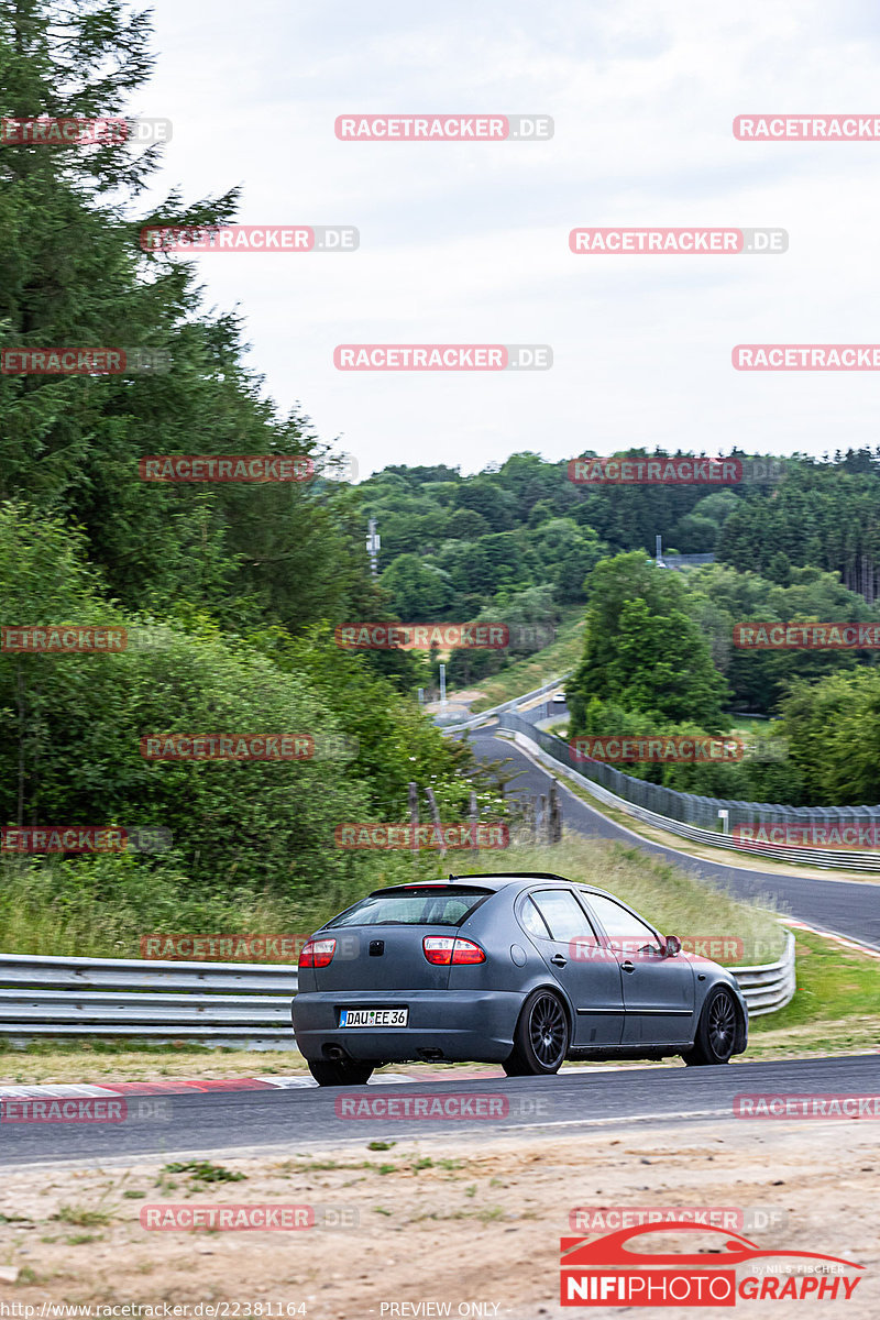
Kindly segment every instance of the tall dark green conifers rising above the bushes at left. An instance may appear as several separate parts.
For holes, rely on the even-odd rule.
[[[149,15],[123,0],[0,0],[1,112],[13,119],[125,112],[152,69]],[[237,193],[141,205],[161,148],[135,141],[0,150],[0,342],[7,347],[165,350],[170,371],[0,376],[0,499],[24,496],[83,527],[129,609],[181,599],[230,623],[292,628],[377,612],[363,520],[332,480],[148,484],[148,454],[305,454],[309,422],[281,418],[244,367],[241,325],[208,315],[194,263],[145,252],[150,223],[228,223]],[[331,512],[332,510],[332,512]],[[364,606],[367,607],[367,606]]]

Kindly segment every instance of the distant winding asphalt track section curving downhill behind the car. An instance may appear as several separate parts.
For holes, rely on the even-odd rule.
[[[511,792],[546,793],[551,775],[536,766],[512,742],[496,738],[492,731],[482,729],[470,735],[470,743],[480,760],[503,760],[511,758],[522,775],[511,785]],[[683,866],[698,875],[706,875],[741,898],[769,894],[776,899],[781,912],[788,912],[796,920],[821,931],[843,935],[858,940],[869,948],[880,950],[880,884],[865,880],[817,880],[809,876],[801,879],[790,875],[770,875],[765,871],[743,870],[738,866],[724,866],[720,862],[707,862],[687,857],[672,847],[662,847],[649,840],[636,840],[632,833],[594,810],[566,788],[566,780],[559,779],[563,789],[563,821],[567,829],[592,838],[610,838],[628,845],[637,843],[646,853],[658,854],[677,866]],[[501,870],[499,866],[497,870]],[[666,935],[678,932],[666,931]]]

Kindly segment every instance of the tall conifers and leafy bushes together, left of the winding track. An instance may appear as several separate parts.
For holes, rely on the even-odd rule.
[[[3,114],[124,114],[149,38],[146,17],[99,0],[0,7]],[[0,824],[160,826],[173,841],[154,855],[7,855],[4,894],[42,892],[45,867],[55,913],[84,892],[149,896],[169,916],[235,895],[339,906],[371,873],[334,849],[335,824],[406,818],[410,781],[460,818],[471,758],[420,713],[418,659],[335,645],[336,623],[389,616],[360,496],[307,418],[265,397],[241,323],[204,309],[195,265],[142,249],[142,226],[227,223],[237,203],[234,190],[187,202],[173,189],[146,207],[158,165],[160,148],[135,143],[0,152],[0,343],[170,360],[144,375],[0,375],[0,622],[152,638],[113,655],[0,653]],[[317,475],[145,483],[139,461],[157,451],[307,455]],[[216,733],[355,752],[231,764],[140,751],[154,734]]]

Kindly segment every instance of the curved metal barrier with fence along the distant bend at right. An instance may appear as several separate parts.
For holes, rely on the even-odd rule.
[[[800,862],[803,866],[842,869],[850,871],[880,871],[880,853],[839,851],[829,847],[789,847],[785,843],[759,843],[722,834],[718,829],[707,829],[708,821],[718,821],[719,810],[730,813],[730,825],[774,825],[798,824],[803,821],[846,821],[864,824],[876,821],[880,825],[880,808],[876,807],[782,807],[773,803],[744,803],[727,797],[701,797],[697,793],[679,793],[676,788],[664,788],[646,779],[635,779],[613,766],[598,760],[575,760],[571,748],[562,738],[537,729],[528,719],[513,711],[499,715],[499,729],[516,735],[516,741],[538,756],[551,770],[565,767],[565,772],[592,793],[600,803],[617,807],[628,816],[653,825],[657,829],[689,838],[710,847],[726,847],[735,853],[748,853],[752,857],[770,857],[777,862]],[[577,768],[575,768],[577,766]],[[662,807],[653,810],[646,804]],[[702,820],[703,824],[693,824]]]

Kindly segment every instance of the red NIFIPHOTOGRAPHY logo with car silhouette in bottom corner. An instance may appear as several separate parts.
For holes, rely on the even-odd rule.
[[[633,1249],[661,1233],[716,1234],[703,1251]],[[654,1238],[656,1241],[656,1238]],[[738,1302],[846,1302],[864,1266],[815,1251],[765,1251],[728,1229],[678,1221],[619,1229],[595,1241],[559,1239],[563,1307],[735,1307]]]

